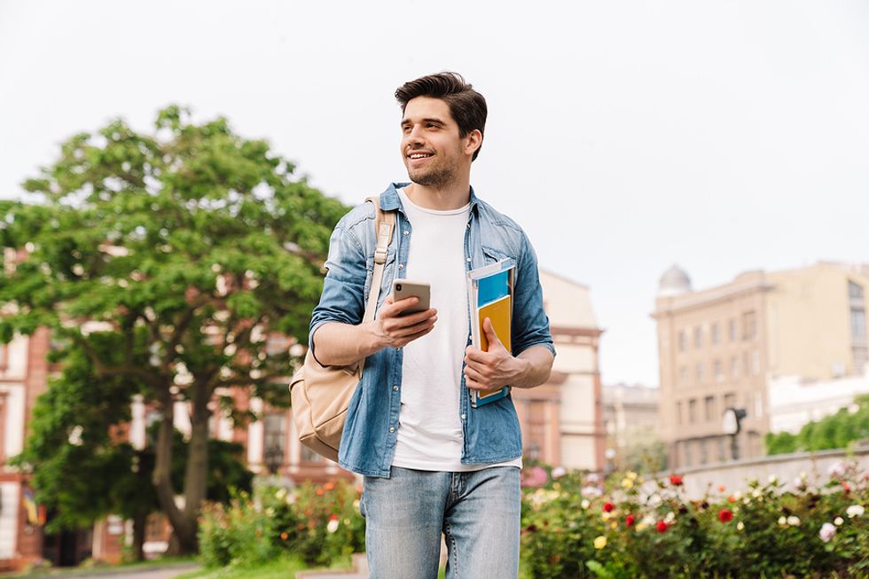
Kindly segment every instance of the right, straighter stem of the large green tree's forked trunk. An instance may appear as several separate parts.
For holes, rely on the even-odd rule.
[[[187,446],[187,464],[184,471],[184,515],[198,521],[202,503],[206,499],[208,476],[208,402],[211,390],[206,384],[192,384],[192,416],[190,443]]]

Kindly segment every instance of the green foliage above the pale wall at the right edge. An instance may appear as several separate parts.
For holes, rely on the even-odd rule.
[[[802,426],[800,432],[766,435],[768,454],[843,449],[869,439],[869,395],[859,396],[849,407]]]

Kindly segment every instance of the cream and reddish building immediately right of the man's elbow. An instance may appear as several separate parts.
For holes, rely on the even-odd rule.
[[[540,272],[544,309],[557,356],[552,378],[536,388],[513,389],[525,458],[599,471],[604,467],[599,329],[589,288]]]

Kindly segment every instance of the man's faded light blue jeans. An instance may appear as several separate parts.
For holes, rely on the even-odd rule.
[[[366,476],[362,495],[370,579],[436,579],[441,533],[447,579],[519,575],[519,469],[470,473],[393,466]]]

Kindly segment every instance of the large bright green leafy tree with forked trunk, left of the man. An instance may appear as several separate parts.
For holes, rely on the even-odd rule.
[[[0,340],[48,327],[81,348],[98,379],[119,379],[161,413],[153,485],[176,552],[195,552],[207,491],[209,403],[234,419],[248,388],[286,404],[298,361],[270,351],[270,332],[304,342],[322,287],[330,232],[346,211],[262,140],[223,118],[195,124],[177,106],[154,134],[113,121],[63,145],[59,160],[0,205],[0,241],[19,251],[0,273]],[[109,339],[111,348],[98,347]],[[175,502],[175,402],[192,424],[184,507]],[[82,431],[84,426],[82,426]],[[82,434],[83,435],[83,434]]]

